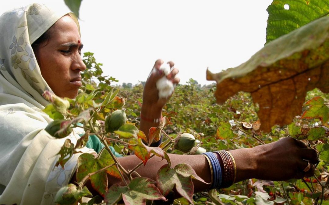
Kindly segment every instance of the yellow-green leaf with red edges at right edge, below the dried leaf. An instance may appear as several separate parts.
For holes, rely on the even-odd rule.
[[[302,118],[320,118],[321,122],[325,124],[329,119],[329,108],[324,104],[322,97],[314,97],[305,103],[310,106],[302,115]]]

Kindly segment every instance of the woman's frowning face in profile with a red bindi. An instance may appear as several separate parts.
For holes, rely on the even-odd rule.
[[[60,97],[75,98],[82,85],[80,71],[86,70],[80,55],[82,47],[78,27],[68,15],[50,28],[49,41],[38,47],[36,57],[42,77]]]

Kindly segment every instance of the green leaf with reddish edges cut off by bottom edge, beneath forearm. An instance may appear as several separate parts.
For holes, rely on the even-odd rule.
[[[136,177],[129,183],[128,187],[114,184],[106,193],[104,200],[107,205],[112,205],[123,199],[126,205],[145,205],[146,200],[164,200],[156,182],[146,177]]]

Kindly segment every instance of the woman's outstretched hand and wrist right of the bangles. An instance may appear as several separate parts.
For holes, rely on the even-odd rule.
[[[280,181],[310,177],[318,163],[316,150],[291,137],[230,152],[237,165],[236,181],[249,178]]]

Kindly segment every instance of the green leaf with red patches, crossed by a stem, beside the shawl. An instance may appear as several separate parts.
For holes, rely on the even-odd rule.
[[[104,170],[104,172],[99,172],[89,177],[92,187],[104,197],[106,191],[108,190],[107,173],[116,178],[121,178],[119,170],[117,170],[115,166],[111,165],[114,165],[114,160],[106,149],[103,149],[96,158],[92,154],[81,154],[78,159],[78,170],[76,174],[77,181],[81,181],[89,173],[93,173],[110,166]]]

